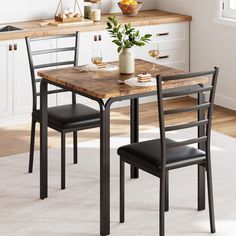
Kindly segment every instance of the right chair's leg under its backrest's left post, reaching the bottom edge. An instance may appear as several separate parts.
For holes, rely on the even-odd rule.
[[[160,178],[159,236],[165,235],[165,178],[166,173],[162,173]]]

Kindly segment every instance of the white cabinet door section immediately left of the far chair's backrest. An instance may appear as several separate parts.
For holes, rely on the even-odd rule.
[[[14,113],[29,113],[32,111],[32,87],[27,49],[24,39],[15,40],[14,55]]]

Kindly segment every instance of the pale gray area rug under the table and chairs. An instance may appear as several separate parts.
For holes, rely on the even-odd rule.
[[[193,131],[185,132],[186,137]],[[141,139],[157,137],[152,129]],[[173,132],[172,137],[179,137]],[[126,222],[119,223],[119,161],[116,149],[128,135],[111,139],[111,235],[158,235],[159,179],[126,168]],[[236,235],[236,140],[212,133],[213,185],[217,236]],[[34,173],[27,173],[28,153],[0,159],[0,236],[98,236],[99,141],[79,143],[79,164],[67,146],[67,188],[60,190],[60,149],[49,150],[49,198],[39,199],[39,153]],[[208,208],[198,212],[197,167],[170,173],[170,211],[166,235],[211,235]]]

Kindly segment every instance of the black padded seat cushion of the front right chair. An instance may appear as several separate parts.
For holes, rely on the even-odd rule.
[[[166,139],[166,142],[175,141]],[[118,154],[121,159],[139,168],[143,166],[145,169],[159,170],[161,165],[161,142],[160,139],[154,139],[122,146],[118,149]],[[167,148],[166,167],[171,168],[174,164],[183,161],[193,164],[196,160],[204,159],[205,152],[191,146]]]

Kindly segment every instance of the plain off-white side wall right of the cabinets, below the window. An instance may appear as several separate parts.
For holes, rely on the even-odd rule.
[[[191,15],[191,71],[220,67],[216,103],[236,110],[236,28],[213,23],[216,0],[158,0],[161,10]]]

